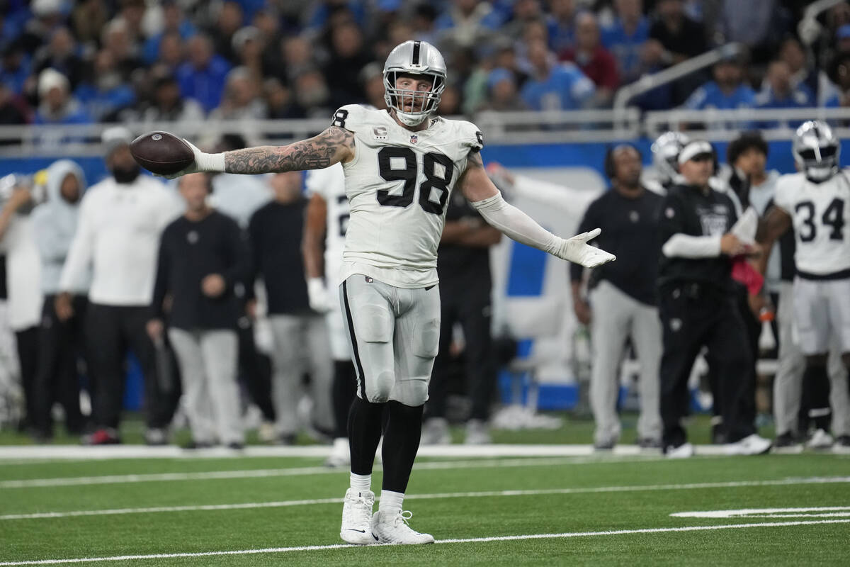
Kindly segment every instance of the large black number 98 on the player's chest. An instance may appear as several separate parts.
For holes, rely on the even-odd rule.
[[[395,158],[395,160],[393,159]],[[403,169],[394,168],[404,160]],[[377,190],[377,201],[387,207],[407,207],[413,202],[416,193],[416,153],[410,148],[386,146],[377,154],[378,171],[384,181],[404,181],[405,187],[401,195],[391,195],[388,190]],[[438,167],[439,166],[439,170]],[[419,205],[426,213],[442,214],[445,201],[449,198],[452,163],[448,156],[428,152],[422,158],[422,171],[425,181],[419,185]],[[440,174],[441,173],[441,174]],[[432,189],[439,191],[438,201],[431,200]]]

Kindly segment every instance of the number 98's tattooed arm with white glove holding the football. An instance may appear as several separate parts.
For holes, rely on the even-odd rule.
[[[190,146],[195,152],[195,162],[167,177],[195,172],[258,174],[322,169],[354,158],[354,133],[331,126],[313,138],[290,145],[259,145],[219,154],[207,154]]]

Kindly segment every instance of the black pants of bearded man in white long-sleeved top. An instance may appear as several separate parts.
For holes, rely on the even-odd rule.
[[[149,428],[165,428],[171,421],[173,404],[161,393],[157,380],[154,345],[145,331],[150,320],[147,307],[111,306],[89,303],[86,313],[86,342],[94,380],[94,423],[117,428],[124,397],[127,349],[133,351],[144,373],[144,406]]]

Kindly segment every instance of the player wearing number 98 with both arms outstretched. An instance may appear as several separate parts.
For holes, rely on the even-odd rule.
[[[432,116],[445,71],[431,44],[401,43],[383,68],[388,110],[343,106],[323,133],[282,147],[224,154],[195,149],[195,162],[181,172],[253,174],[343,164],[351,217],[339,295],[358,382],[348,414],[351,475],[340,530],[349,543],[433,542],[411,529],[411,514],[401,505],[439,342],[437,247],[452,188],[457,185],[490,226],[515,241],[587,267],[615,259],[587,245],[598,229],[564,239],[502,199],[484,172],[479,130]],[[381,502],[373,514],[371,468],[385,410]]]

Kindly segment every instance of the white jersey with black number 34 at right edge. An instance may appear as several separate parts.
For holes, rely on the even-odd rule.
[[[850,269],[850,179],[836,173],[813,183],[804,173],[783,175],[774,204],[794,221],[797,271],[830,275]]]

